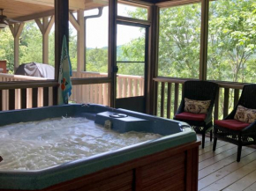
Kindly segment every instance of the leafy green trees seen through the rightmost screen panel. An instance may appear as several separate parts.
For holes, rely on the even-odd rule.
[[[210,3],[208,79],[256,82],[255,10],[253,0]]]

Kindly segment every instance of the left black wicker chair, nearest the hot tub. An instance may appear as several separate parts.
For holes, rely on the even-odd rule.
[[[210,140],[213,137],[212,113],[215,97],[219,91],[218,84],[207,81],[186,81],[180,106],[175,114],[174,120],[187,122],[196,133],[202,135],[202,148],[205,147],[205,136],[210,131]],[[184,112],[184,98],[194,100],[211,100],[207,114],[191,114]]]

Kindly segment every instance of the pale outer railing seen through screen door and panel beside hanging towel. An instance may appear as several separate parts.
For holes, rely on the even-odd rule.
[[[108,77],[106,73],[76,72],[72,78]],[[71,101],[76,103],[96,103],[109,106],[109,84],[74,85]],[[127,98],[144,94],[144,77],[117,75],[117,98]]]

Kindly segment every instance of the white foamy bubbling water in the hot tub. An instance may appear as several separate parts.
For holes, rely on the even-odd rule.
[[[0,170],[39,170],[145,142],[160,135],[119,134],[85,118],[22,122],[0,128]]]

